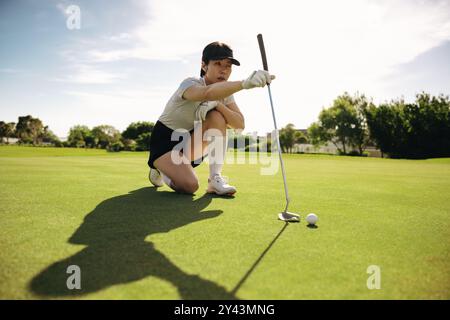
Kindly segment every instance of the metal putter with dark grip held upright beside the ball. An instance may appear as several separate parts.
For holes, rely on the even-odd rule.
[[[264,41],[262,38],[262,34],[258,34],[258,44],[259,44],[259,50],[261,51],[261,58],[263,62],[264,70],[269,71],[269,67],[267,65],[267,57],[266,57],[266,49],[264,48]],[[288,212],[288,206],[289,206],[289,193],[286,183],[286,174],[284,172],[284,164],[283,164],[283,157],[281,156],[281,147],[280,147],[280,139],[278,136],[278,128],[277,128],[277,121],[275,119],[275,111],[273,108],[273,101],[272,101],[272,92],[270,91],[270,84],[267,84],[267,89],[269,90],[269,98],[270,98],[270,106],[272,107],[272,117],[273,117],[273,124],[275,126],[275,134],[277,138],[277,148],[278,148],[278,156],[280,157],[280,163],[281,163],[281,173],[283,175],[283,182],[284,182],[284,192],[286,194],[286,208],[283,212],[278,214],[278,219],[282,221],[287,222],[299,222],[300,216],[296,213]]]

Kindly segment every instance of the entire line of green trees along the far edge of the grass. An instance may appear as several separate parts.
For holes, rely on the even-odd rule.
[[[67,141],[61,142],[41,120],[28,115],[19,117],[17,124],[0,121],[0,142],[17,138],[21,144],[146,151],[153,127],[153,122],[133,122],[120,132],[110,125],[92,129],[76,125]],[[319,147],[332,143],[343,155],[362,156],[367,147],[374,146],[391,158],[450,157],[450,100],[422,92],[413,103],[397,99],[376,106],[364,95],[346,92],[323,108],[307,130],[296,130],[290,123],[279,130],[279,138],[282,152],[287,153],[296,144]],[[261,137],[240,133],[229,136],[229,147],[236,147],[239,139],[246,151],[259,150],[262,143],[266,143],[265,150],[271,150],[270,140],[262,142]]]

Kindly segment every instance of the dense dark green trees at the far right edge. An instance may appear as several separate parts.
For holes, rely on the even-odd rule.
[[[450,156],[450,100],[422,92],[414,103],[392,100],[365,112],[370,136],[391,158]]]

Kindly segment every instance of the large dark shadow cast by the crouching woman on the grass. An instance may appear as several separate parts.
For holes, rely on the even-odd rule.
[[[175,286],[181,299],[236,299],[222,286],[187,274],[145,241],[151,234],[219,216],[221,210],[202,211],[212,199],[209,194],[194,200],[192,195],[148,187],[101,202],[69,239],[87,247],[35,276],[31,291],[47,297],[79,296],[153,276]],[[79,290],[67,288],[70,265],[81,269]]]

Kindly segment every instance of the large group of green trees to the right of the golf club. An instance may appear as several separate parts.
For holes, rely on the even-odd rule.
[[[375,146],[390,158],[449,157],[450,100],[422,92],[413,103],[376,106],[364,95],[344,93],[320,112],[308,138],[315,146],[331,142],[340,154],[363,155]]]

